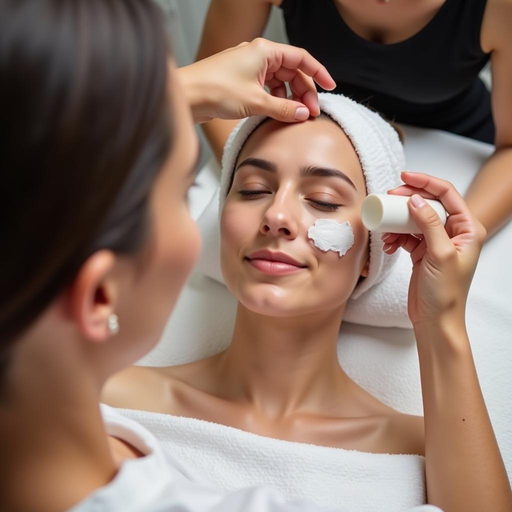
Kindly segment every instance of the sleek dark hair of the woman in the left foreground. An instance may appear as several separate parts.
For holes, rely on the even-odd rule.
[[[168,56],[152,0],[0,0],[0,360],[94,251],[141,246]]]

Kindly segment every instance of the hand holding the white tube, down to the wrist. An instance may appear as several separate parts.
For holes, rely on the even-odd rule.
[[[416,327],[455,323],[464,326],[467,293],[485,240],[484,227],[465,201],[445,180],[421,173],[402,173],[405,185],[389,194],[412,196],[409,209],[423,236],[384,233],[385,252],[399,247],[411,253],[413,273],[409,286],[409,316]],[[425,201],[441,201],[449,214],[443,226]]]

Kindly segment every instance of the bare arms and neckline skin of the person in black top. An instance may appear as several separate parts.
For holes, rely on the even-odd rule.
[[[198,59],[261,36],[270,8],[282,0],[212,0]],[[329,0],[334,1],[350,28],[363,38],[391,44],[407,39],[435,16],[445,0]],[[225,30],[229,27],[229,30]],[[488,0],[480,42],[491,55],[492,108],[496,150],[483,164],[466,194],[473,214],[492,236],[512,217],[512,0]],[[282,84],[275,94],[284,95]],[[295,93],[293,93],[295,96]],[[220,160],[233,124],[212,121],[204,125],[212,150]]]

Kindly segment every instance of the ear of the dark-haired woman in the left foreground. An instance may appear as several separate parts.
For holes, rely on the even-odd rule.
[[[109,316],[115,312],[118,286],[112,275],[115,254],[100,250],[81,266],[70,289],[71,314],[82,335],[95,343],[110,338]]]

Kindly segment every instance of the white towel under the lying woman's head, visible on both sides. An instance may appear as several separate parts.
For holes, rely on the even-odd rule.
[[[197,270],[215,281],[225,284],[220,262],[219,189],[198,219],[203,239]],[[357,298],[350,298],[344,314],[346,322],[376,327],[411,328],[407,314],[407,294],[411,279],[411,258],[398,251],[397,261],[379,283]]]

